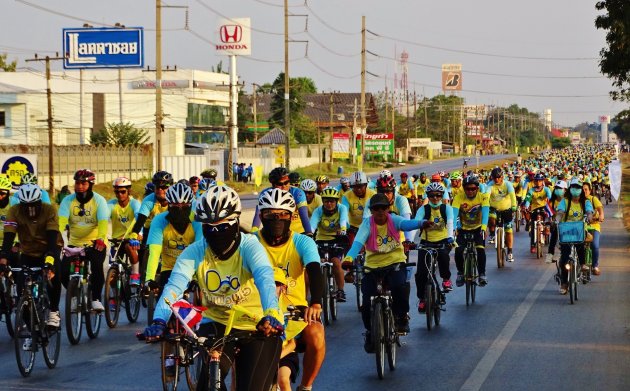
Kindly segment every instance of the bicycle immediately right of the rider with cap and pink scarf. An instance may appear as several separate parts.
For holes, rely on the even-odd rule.
[[[430,263],[427,263],[427,256],[425,256],[424,262],[429,270],[429,278],[424,288],[424,302],[426,303],[426,318],[427,318],[427,330],[431,331],[433,324],[440,325],[440,318],[442,317],[442,308],[446,305],[446,295],[440,284],[438,283],[435,271],[438,268],[437,257],[438,250],[445,250],[447,246],[445,244],[430,244],[420,243],[416,246],[417,250],[424,250],[427,252]]]

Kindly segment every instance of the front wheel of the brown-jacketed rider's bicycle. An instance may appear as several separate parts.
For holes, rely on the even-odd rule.
[[[15,359],[22,376],[27,377],[35,365],[35,351],[37,340],[31,331],[34,329],[32,312],[35,308],[32,301],[25,297],[18,302],[15,315]],[[30,343],[28,342],[30,341]]]

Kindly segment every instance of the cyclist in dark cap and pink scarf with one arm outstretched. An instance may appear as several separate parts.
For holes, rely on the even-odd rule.
[[[371,216],[361,223],[352,247],[344,258],[344,263],[352,264],[354,258],[365,246],[366,267],[376,269],[401,264],[389,273],[386,282],[392,294],[392,310],[396,329],[400,333],[408,333],[409,291],[407,289],[407,270],[404,267],[406,256],[400,242],[399,232],[428,228],[433,223],[427,220],[409,220],[390,214],[391,202],[383,193],[373,195],[369,205],[372,211]],[[367,303],[370,302],[370,297],[376,293],[376,279],[374,274],[367,270],[363,277],[361,293],[363,294],[363,303],[365,303],[361,308],[361,318],[366,330],[364,348],[366,352],[371,353],[373,345],[370,334],[370,305]]]

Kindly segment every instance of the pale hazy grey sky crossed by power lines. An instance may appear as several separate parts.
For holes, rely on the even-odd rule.
[[[34,53],[62,51],[62,29],[113,26],[145,29],[145,65],[155,67],[155,1],[0,0],[0,53],[18,67]],[[162,64],[210,70],[218,55],[218,19],[251,18],[252,54],[237,73],[248,92],[284,71],[283,0],[164,0]],[[181,8],[181,7],[185,8]],[[608,95],[599,73],[605,32],[597,30],[595,0],[289,0],[289,75],[309,77],[324,92],[360,92],[361,17],[366,17],[368,92],[391,90],[409,54],[410,93],[441,93],[441,65],[462,64],[466,104],[518,104],[553,122],[574,126],[614,116],[627,104]],[[297,42],[297,41],[308,41]],[[60,63],[53,70],[61,70]],[[113,71],[112,71],[113,72]],[[420,99],[420,98],[419,98]]]

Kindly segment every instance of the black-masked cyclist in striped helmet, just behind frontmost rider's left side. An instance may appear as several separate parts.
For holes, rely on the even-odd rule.
[[[203,239],[201,224],[192,222],[193,193],[189,186],[176,183],[166,190],[168,210],[151,221],[149,229],[149,260],[146,282],[151,289],[164,288],[175,266],[175,260],[193,242]],[[158,262],[162,259],[159,284],[155,281]]]

